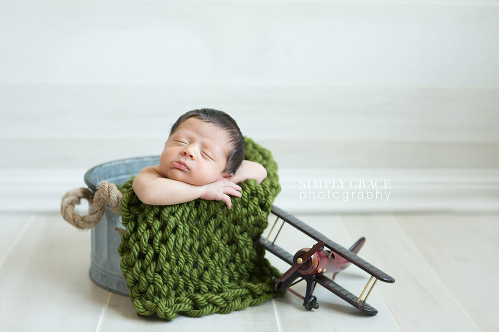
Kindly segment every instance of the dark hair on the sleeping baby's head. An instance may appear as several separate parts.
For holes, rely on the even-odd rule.
[[[229,114],[221,110],[212,108],[194,109],[177,119],[170,129],[170,135],[177,130],[177,127],[182,122],[190,117],[196,117],[205,122],[214,123],[227,133],[229,144],[232,145],[232,151],[230,151],[227,156],[227,165],[225,166],[224,172],[228,174],[236,173],[236,170],[241,166],[245,156],[245,140],[236,121]]]

